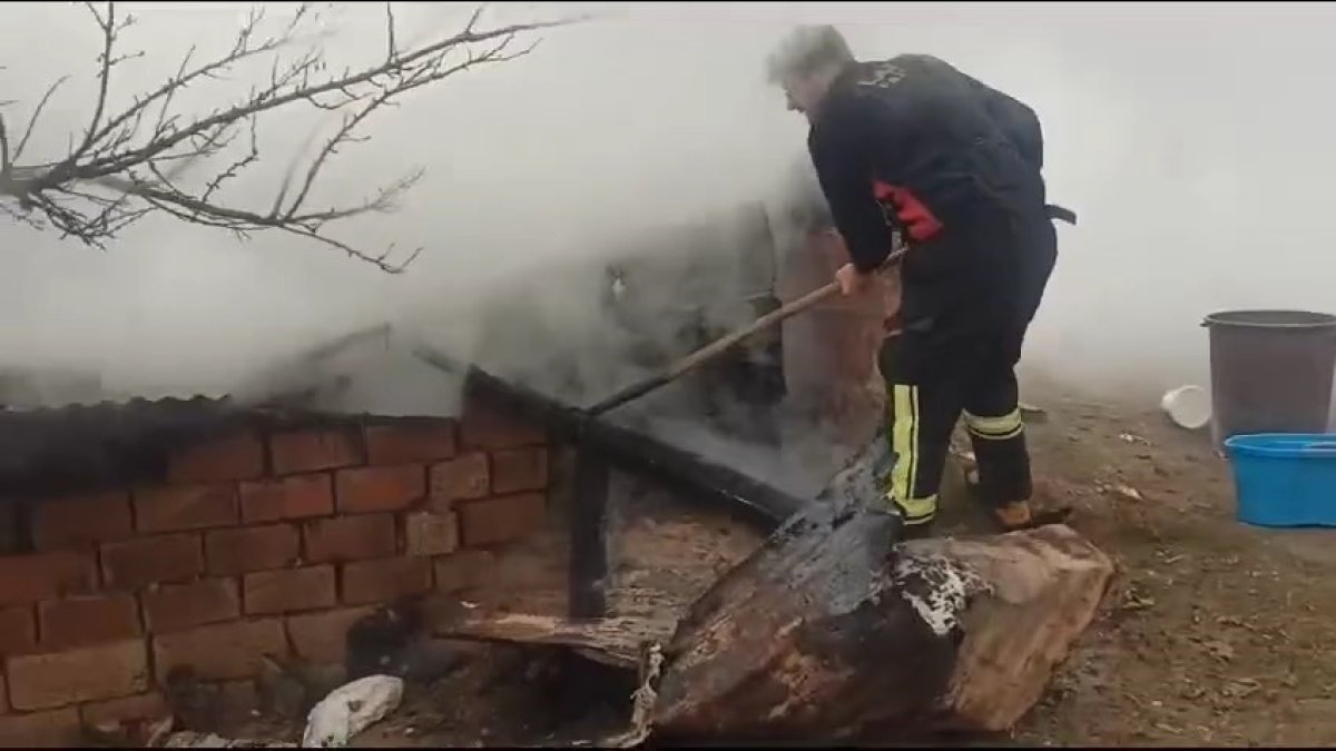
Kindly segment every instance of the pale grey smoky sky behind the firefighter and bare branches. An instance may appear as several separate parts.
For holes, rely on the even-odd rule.
[[[270,4],[281,15],[285,4]],[[230,43],[246,5],[156,3],[126,43],[143,48],[112,90],[124,102],[191,44]],[[505,17],[565,4],[501,4]],[[107,253],[0,226],[0,351],[86,362],[142,390],[224,388],[248,363],[315,334],[409,317],[465,335],[452,310],[514,293],[534,269],[624,229],[759,195],[802,154],[804,124],[763,83],[768,47],[830,21],[864,57],[934,53],[1030,103],[1047,138],[1050,195],[1081,215],[1027,358],[1070,377],[1172,386],[1201,380],[1201,317],[1246,306],[1336,309],[1325,206],[1336,172],[1329,4],[671,4],[556,29],[532,56],[407,98],[331,166],[323,199],[355,199],[415,164],[425,183],[393,216],[343,229],[379,246],[425,245],[389,278],[275,235],[148,220]],[[403,5],[401,39],[456,28],[466,7]],[[381,9],[338,8],[331,67],[383,51]],[[88,116],[96,29],[65,4],[0,8],[8,122],[55,76],[31,156],[59,156]],[[254,71],[251,71],[254,72]],[[180,100],[202,111],[247,75]],[[118,99],[119,98],[119,99]],[[261,126],[270,159],[230,198],[267,206],[277,175],[322,122]],[[326,127],[329,122],[323,123]],[[15,126],[11,124],[11,128]],[[538,279],[541,281],[541,279]]]

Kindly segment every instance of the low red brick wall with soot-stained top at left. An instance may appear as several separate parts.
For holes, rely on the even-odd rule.
[[[469,408],[246,429],[164,484],[37,498],[35,549],[0,556],[0,746],[151,715],[176,665],[246,694],[263,653],[342,661],[375,604],[506,587],[498,545],[545,524],[548,478],[541,432]]]

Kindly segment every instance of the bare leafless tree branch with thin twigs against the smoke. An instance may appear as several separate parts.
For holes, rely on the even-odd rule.
[[[57,79],[37,102],[12,150],[11,134],[0,119],[0,210],[5,216],[29,226],[51,227],[63,237],[103,247],[134,222],[163,212],[184,222],[227,230],[243,239],[255,231],[277,230],[322,243],[390,273],[401,271],[422,249],[411,251],[403,261],[393,261],[393,245],[383,251],[369,253],[330,237],[326,229],[351,216],[393,211],[397,200],[422,178],[424,170],[411,170],[355,204],[311,208],[307,202],[325,167],[345,148],[367,140],[358,130],[375,111],[397,106],[409,91],[473,67],[521,57],[533,51],[536,41],[512,51],[518,37],[580,20],[481,28],[482,7],[478,7],[462,31],[401,48],[394,8],[386,3],[383,60],[329,75],[325,51],[318,41],[295,56],[287,56],[287,60],[281,55],[299,43],[305,24],[318,21],[319,15],[310,5],[301,5],[283,29],[271,36],[262,36],[265,12],[254,9],[226,53],[196,63],[192,47],[162,86],[132,96],[116,108],[108,95],[115,68],[127,59],[143,55],[119,51],[120,37],[135,19],[120,19],[115,3],[102,7],[86,3],[86,8],[102,32],[96,96],[87,130],[77,138],[71,134],[63,156],[20,163],[47,103],[68,76]],[[319,32],[311,35],[317,40],[319,36]],[[238,63],[263,55],[274,57],[269,79],[253,87],[242,100],[203,114],[174,111],[176,96],[183,90],[219,79]],[[275,198],[267,202],[267,210],[224,203],[220,198],[226,192],[224,186],[261,160],[261,119],[301,104],[339,112],[339,126],[306,160],[305,168],[301,167],[302,160],[293,163]],[[247,139],[239,142],[244,131],[248,131]],[[226,159],[224,166],[212,168],[211,176],[187,184],[184,175],[188,170],[212,163],[231,151],[234,144],[239,148],[244,144],[244,148]]]

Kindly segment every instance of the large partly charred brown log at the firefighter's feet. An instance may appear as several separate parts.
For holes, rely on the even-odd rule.
[[[1011,727],[1113,565],[1066,527],[891,547],[890,517],[808,512],[679,625],[653,715],[681,739],[882,739]]]

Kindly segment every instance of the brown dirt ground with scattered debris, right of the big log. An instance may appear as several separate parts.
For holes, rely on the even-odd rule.
[[[1209,437],[1153,409],[1030,393],[1049,417],[1029,428],[1035,474],[1118,575],[1015,740],[1336,743],[1336,532],[1237,522]]]

